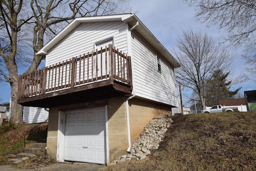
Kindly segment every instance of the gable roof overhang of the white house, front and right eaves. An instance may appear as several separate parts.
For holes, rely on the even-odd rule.
[[[68,26],[66,26],[59,34],[57,34],[52,40],[50,40],[41,50],[37,52],[40,56],[46,56],[48,51],[53,48],[58,42],[60,42],[65,36],[67,36],[72,30],[74,30],[79,24],[89,22],[115,22],[122,21],[128,23],[130,27],[138,26],[134,30],[140,34],[149,44],[152,45],[174,68],[180,67],[180,64],[175,58],[164,48],[164,46],[156,39],[156,37],[144,26],[144,24],[137,18],[135,14],[118,14],[108,16],[90,16],[75,18]]]

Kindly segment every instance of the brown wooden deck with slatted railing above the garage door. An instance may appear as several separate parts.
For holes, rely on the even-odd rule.
[[[19,77],[18,103],[54,107],[131,94],[130,56],[110,44]]]

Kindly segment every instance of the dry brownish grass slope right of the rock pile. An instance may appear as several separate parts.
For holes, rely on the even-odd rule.
[[[256,112],[173,116],[159,149],[107,171],[255,171]]]

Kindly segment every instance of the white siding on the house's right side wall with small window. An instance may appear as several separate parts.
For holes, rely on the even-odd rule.
[[[161,58],[158,71],[156,53],[136,36],[132,39],[134,82],[136,96],[178,106],[174,69]]]

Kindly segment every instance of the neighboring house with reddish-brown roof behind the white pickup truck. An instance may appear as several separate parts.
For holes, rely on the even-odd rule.
[[[238,107],[239,111],[247,111],[245,99],[237,98],[237,99],[223,99],[219,100],[219,104],[224,107]]]

